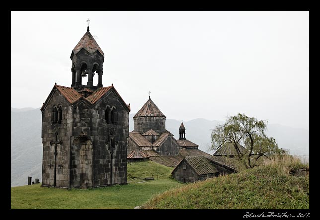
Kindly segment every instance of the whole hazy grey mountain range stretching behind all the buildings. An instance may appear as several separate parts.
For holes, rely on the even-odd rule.
[[[129,130],[133,130],[134,114],[129,116]],[[202,118],[183,121],[186,138],[209,152],[211,130],[223,121]],[[167,119],[166,129],[179,138],[181,121]],[[40,108],[11,108],[11,186],[26,185],[28,176],[39,178],[42,173],[42,140]],[[280,124],[268,125],[267,134],[273,136],[279,147],[290,149],[291,154],[309,157],[309,131]]]

